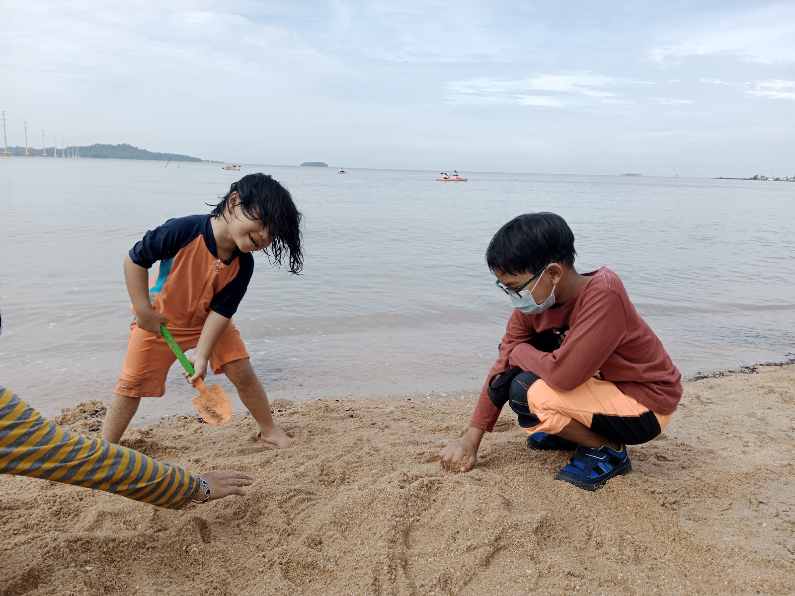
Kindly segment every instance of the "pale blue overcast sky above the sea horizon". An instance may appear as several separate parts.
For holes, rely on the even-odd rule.
[[[795,176],[795,2],[0,0],[0,39],[10,145]]]

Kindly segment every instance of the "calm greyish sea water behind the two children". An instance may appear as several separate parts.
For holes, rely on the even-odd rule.
[[[126,251],[250,172],[273,174],[306,215],[304,275],[258,255],[235,315],[271,398],[479,389],[511,311],[483,255],[527,211],[567,219],[577,269],[619,273],[683,373],[795,351],[795,184],[9,158],[0,384],[48,415],[107,401],[131,320]],[[174,366],[138,420],[190,412],[193,394]]]

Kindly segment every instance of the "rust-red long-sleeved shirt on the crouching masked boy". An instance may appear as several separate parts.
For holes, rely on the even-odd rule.
[[[566,304],[537,315],[514,308],[470,426],[487,432],[494,428],[501,406],[488,396],[489,379],[512,366],[537,374],[552,389],[563,392],[599,374],[652,412],[665,416],[677,409],[681,373],[638,315],[619,276],[607,267],[583,275],[591,279]],[[537,333],[561,327],[568,327],[568,333],[553,352],[542,352],[528,343]]]

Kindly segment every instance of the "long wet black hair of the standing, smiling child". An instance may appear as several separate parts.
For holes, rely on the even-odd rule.
[[[273,177],[263,173],[248,174],[232,183],[229,192],[218,198],[211,215],[223,217],[233,192],[238,193],[238,205],[248,219],[261,219],[273,231],[273,242],[263,250],[273,266],[281,266],[288,257],[290,273],[298,275],[304,269],[304,250],[301,248],[301,218],[293,196]],[[210,203],[207,203],[210,204]]]

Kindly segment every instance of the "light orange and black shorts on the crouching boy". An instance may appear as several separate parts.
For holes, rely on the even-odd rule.
[[[525,428],[528,433],[556,435],[571,420],[577,420],[600,435],[630,444],[646,443],[665,429],[672,416],[650,412],[611,381],[596,377],[573,391],[556,391],[538,379],[527,390],[527,408],[539,420]]]

